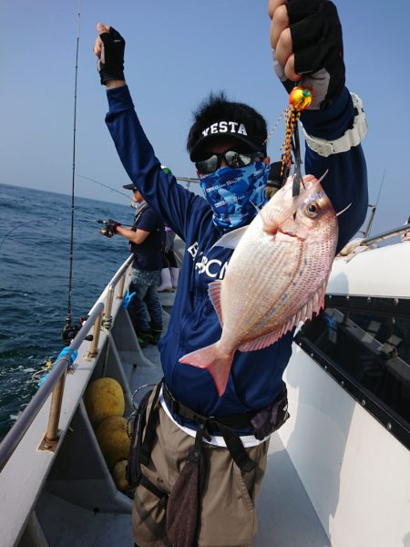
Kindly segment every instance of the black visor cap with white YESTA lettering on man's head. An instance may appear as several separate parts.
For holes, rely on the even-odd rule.
[[[249,126],[250,124],[248,124]],[[202,159],[203,150],[210,142],[219,139],[231,138],[239,140],[246,145],[247,150],[254,152],[265,152],[266,144],[263,140],[265,135],[260,132],[255,132],[251,127],[246,127],[240,121],[232,121],[229,119],[220,119],[215,121],[209,127],[201,130],[201,137],[190,150],[190,160],[198,161]],[[262,144],[263,143],[263,144]]]

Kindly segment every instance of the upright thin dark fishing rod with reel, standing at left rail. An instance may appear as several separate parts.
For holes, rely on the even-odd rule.
[[[78,79],[78,47],[79,47],[79,23],[80,23],[80,0],[78,0],[77,13],[77,46],[76,46],[76,70],[74,78],[74,119],[73,119],[73,175],[71,181],[71,229],[70,229],[70,259],[68,275],[68,303],[66,325],[64,326],[61,337],[68,346],[70,341],[77,335],[79,326],[71,323],[71,304],[73,293],[73,263],[74,263],[74,212],[75,212],[75,180],[76,180],[76,131],[77,131],[77,79]]]

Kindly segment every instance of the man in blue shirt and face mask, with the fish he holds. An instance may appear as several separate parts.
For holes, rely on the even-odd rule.
[[[146,201],[186,243],[164,380],[152,393],[132,523],[140,547],[248,546],[270,435],[287,414],[282,374],[294,326],[318,312],[335,253],[367,209],[360,98],[344,86],[342,29],[329,0],[270,0],[275,71],[312,91],[299,195],[268,203],[267,127],[248,105],[211,94],[187,149],[205,201],[161,170],[123,73],[125,42],[97,25],[108,129]],[[323,180],[319,179],[323,177]],[[340,216],[336,215],[340,213]]]

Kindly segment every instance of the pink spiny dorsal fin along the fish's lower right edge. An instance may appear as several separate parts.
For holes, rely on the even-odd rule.
[[[304,304],[302,309],[300,309],[295,315],[292,315],[289,321],[272,333],[260,336],[259,338],[255,338],[249,342],[245,342],[239,346],[238,349],[242,352],[256,351],[257,349],[272,346],[272,344],[277,342],[282,335],[285,335],[287,332],[292,330],[294,326],[299,325],[301,321],[304,323],[307,319],[312,319],[313,313],[319,314],[321,308],[323,308],[326,286],[327,278],[324,280],[323,284],[319,287],[316,293],[313,294],[311,300]]]

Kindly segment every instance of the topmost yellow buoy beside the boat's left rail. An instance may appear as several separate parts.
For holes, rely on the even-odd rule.
[[[85,403],[91,425],[97,425],[109,416],[122,416],[125,409],[124,394],[114,378],[99,378],[89,384]]]

